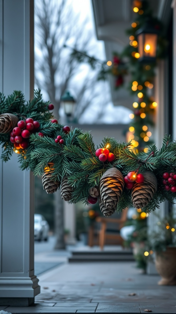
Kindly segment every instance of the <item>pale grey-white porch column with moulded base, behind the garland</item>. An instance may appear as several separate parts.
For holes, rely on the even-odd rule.
[[[0,90],[34,90],[34,1],[0,0]],[[39,294],[34,275],[34,176],[17,155],[0,161],[0,305],[30,305]]]

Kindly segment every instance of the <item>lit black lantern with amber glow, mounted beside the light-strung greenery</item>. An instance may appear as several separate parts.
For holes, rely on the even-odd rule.
[[[139,61],[143,63],[155,62],[157,54],[158,31],[148,24],[136,32],[138,42]]]

